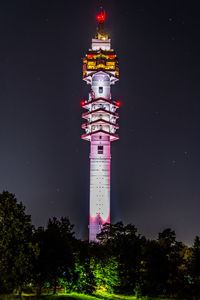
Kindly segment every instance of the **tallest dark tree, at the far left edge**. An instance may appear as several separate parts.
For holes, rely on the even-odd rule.
[[[31,218],[15,195],[0,194],[0,284],[1,292],[19,289],[31,278],[32,262],[38,255],[32,243]]]

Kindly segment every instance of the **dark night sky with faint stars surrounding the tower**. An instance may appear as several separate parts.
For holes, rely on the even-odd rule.
[[[89,143],[82,60],[103,4],[120,81],[112,143],[112,221],[147,237],[200,235],[200,7],[193,0],[1,0],[0,191],[35,225],[69,216],[85,237]]]

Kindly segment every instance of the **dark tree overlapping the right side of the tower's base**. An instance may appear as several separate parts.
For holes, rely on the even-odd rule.
[[[117,291],[132,294],[138,288],[142,244],[144,238],[137,234],[134,225],[105,224],[98,239],[110,251],[110,257],[116,257],[120,282]]]

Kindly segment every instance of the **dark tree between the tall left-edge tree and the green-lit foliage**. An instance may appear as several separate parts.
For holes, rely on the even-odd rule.
[[[54,294],[58,282],[71,280],[74,268],[74,232],[68,218],[49,219],[47,229],[38,228],[34,240],[38,243],[40,254],[35,263],[34,280],[38,294],[45,282],[50,282]]]

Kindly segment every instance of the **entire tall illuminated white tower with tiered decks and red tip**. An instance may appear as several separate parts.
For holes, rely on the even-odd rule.
[[[97,241],[104,223],[110,223],[110,145],[118,140],[116,130],[120,106],[111,98],[111,85],[119,79],[119,63],[111,40],[104,33],[105,11],[97,16],[97,34],[83,59],[83,80],[91,85],[88,100],[81,102],[87,112],[82,139],[90,142],[89,241]]]

